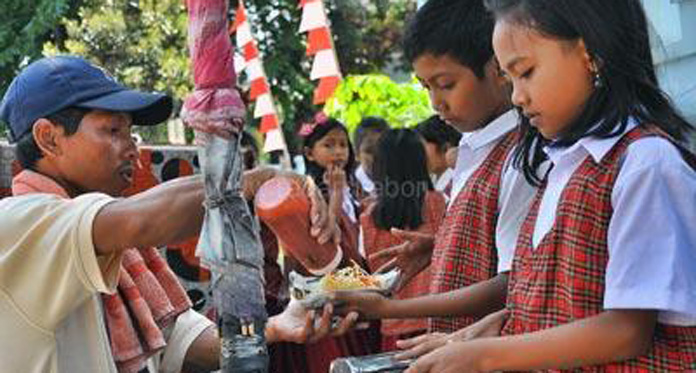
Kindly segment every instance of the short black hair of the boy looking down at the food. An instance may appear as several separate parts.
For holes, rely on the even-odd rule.
[[[429,0],[406,29],[406,58],[413,64],[425,54],[447,55],[483,78],[493,58],[494,25],[483,0]]]

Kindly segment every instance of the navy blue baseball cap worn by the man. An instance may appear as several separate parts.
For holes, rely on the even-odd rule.
[[[58,56],[33,62],[12,81],[0,103],[0,121],[16,142],[34,122],[69,107],[129,113],[151,126],[172,113],[171,97],[128,89],[83,58]]]

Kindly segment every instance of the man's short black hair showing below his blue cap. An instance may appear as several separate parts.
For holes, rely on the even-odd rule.
[[[48,115],[46,119],[57,126],[63,127],[67,136],[72,136],[80,128],[82,118],[84,118],[89,111],[88,109],[70,107],[55,114]],[[34,170],[36,168],[36,162],[43,158],[43,153],[41,153],[41,149],[39,149],[39,146],[36,144],[32,132],[26,133],[17,141],[15,156],[22,168],[29,170]]]

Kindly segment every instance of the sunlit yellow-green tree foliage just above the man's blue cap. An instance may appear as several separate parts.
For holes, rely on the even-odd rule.
[[[76,54],[104,67],[129,87],[183,99],[193,88],[187,15],[181,0],[112,0],[80,8],[64,20],[67,40],[44,52]],[[148,143],[166,143],[166,126],[141,127]]]

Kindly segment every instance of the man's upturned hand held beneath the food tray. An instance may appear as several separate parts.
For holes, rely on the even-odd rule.
[[[358,319],[357,313],[349,313],[338,325],[332,325],[333,306],[327,304],[316,320],[316,312],[291,300],[283,313],[268,320],[266,340],[273,342],[314,343],[327,336],[339,336],[350,330]]]

